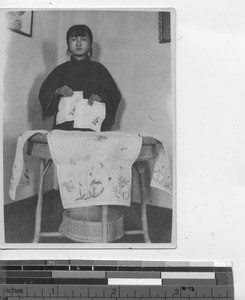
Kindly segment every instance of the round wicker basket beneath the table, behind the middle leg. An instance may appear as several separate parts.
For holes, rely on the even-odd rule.
[[[102,207],[67,209],[63,213],[60,231],[76,242],[102,243]],[[108,208],[108,242],[124,235],[123,214]]]

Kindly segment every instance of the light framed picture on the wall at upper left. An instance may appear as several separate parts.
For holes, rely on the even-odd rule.
[[[8,28],[25,36],[32,36],[33,11],[9,11]]]

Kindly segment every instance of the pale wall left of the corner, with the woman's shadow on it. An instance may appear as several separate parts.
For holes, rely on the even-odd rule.
[[[38,91],[47,74],[58,62],[59,12],[34,12],[33,36],[31,38],[7,32],[4,57],[3,97],[3,168],[4,202],[12,200],[8,195],[17,137],[30,129],[50,129],[51,122],[41,120]],[[31,186],[18,188],[17,199],[37,194],[38,165],[28,159]],[[52,176],[46,188],[53,186]]]

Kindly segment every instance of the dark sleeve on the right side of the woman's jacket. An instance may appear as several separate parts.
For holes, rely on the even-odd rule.
[[[115,122],[118,104],[121,100],[121,93],[119,92],[111,74],[104,66],[102,66],[100,72],[99,96],[103,98],[103,102],[106,105],[106,118],[104,120],[104,127],[106,129],[110,129]]]

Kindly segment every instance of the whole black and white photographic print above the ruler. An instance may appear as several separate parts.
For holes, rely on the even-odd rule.
[[[3,247],[175,248],[175,10],[4,13]]]

